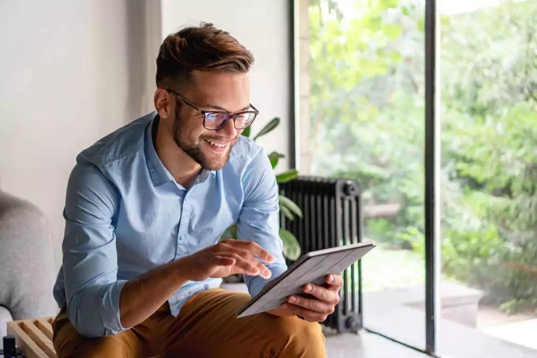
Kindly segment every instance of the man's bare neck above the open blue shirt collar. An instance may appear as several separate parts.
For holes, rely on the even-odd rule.
[[[190,188],[200,173],[201,166],[177,147],[170,134],[166,133],[166,128],[162,123],[158,125],[154,145],[158,158],[161,159],[173,179],[183,187]]]

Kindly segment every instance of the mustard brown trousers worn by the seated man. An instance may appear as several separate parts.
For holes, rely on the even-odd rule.
[[[237,318],[249,299],[223,289],[202,291],[178,317],[166,302],[141,324],[99,338],[78,334],[62,310],[53,323],[54,348],[58,358],[326,357],[320,324],[268,313]]]

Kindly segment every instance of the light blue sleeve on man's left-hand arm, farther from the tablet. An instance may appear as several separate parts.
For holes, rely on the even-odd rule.
[[[85,337],[127,329],[119,316],[126,281],[117,280],[113,220],[118,207],[112,182],[98,167],[79,159],[67,185],[62,251],[67,316]]]

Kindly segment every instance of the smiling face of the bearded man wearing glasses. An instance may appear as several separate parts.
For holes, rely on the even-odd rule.
[[[248,75],[233,72],[194,71],[193,82],[182,97],[202,111],[237,113],[249,108]],[[209,130],[204,127],[204,114],[176,98],[173,139],[179,148],[206,170],[219,170],[226,165],[231,148],[241,135],[233,119],[226,126]]]

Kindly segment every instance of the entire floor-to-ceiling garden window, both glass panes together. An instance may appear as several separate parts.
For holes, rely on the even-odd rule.
[[[362,260],[364,326],[425,350],[425,2],[300,6],[300,171],[361,182],[364,235],[379,244]],[[537,350],[537,1],[437,8],[437,350],[494,357],[500,342],[510,356],[528,354]]]

